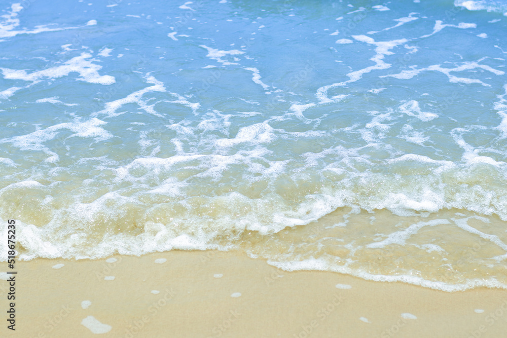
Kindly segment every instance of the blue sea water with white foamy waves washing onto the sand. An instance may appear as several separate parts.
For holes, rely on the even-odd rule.
[[[239,249],[507,288],[507,3],[0,10],[0,227],[21,258]]]

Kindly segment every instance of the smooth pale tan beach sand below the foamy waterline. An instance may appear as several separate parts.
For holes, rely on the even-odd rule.
[[[238,252],[175,250],[108,261],[18,261],[16,330],[7,329],[4,310],[1,336],[507,335],[505,290],[449,293],[332,272],[284,272]],[[6,309],[7,282],[0,286]]]

